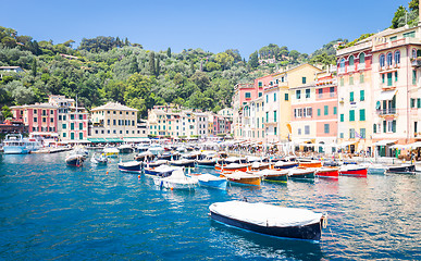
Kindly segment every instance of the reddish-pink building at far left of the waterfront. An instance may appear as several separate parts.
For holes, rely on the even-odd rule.
[[[22,120],[28,125],[33,136],[57,137],[58,113],[57,107],[49,103],[35,103],[30,105],[12,107],[13,117]]]

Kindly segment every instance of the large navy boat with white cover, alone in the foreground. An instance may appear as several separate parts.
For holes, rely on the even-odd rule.
[[[260,202],[216,202],[209,210],[218,222],[275,237],[320,240],[327,225],[326,214]]]

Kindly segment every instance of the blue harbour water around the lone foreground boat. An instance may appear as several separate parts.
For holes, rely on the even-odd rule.
[[[116,159],[74,169],[64,157],[2,156],[0,260],[421,259],[420,175],[175,191],[119,172]],[[239,231],[208,216],[211,203],[244,197],[327,212],[329,226],[315,244]]]

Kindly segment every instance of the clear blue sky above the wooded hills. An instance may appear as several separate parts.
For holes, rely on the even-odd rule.
[[[127,37],[147,50],[238,49],[249,55],[269,44],[312,53],[338,38],[388,26],[410,0],[0,0],[0,26],[35,40],[77,47],[82,38]]]

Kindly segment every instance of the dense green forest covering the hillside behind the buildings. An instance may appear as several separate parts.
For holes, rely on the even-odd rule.
[[[418,0],[409,11],[399,7],[392,28],[418,23]],[[404,24],[403,24],[404,23]],[[359,39],[370,35],[361,35]],[[311,54],[270,44],[246,61],[236,49],[212,53],[202,49],[145,50],[127,38],[83,38],[78,47],[67,40],[37,41],[13,28],[0,26],[0,66],[21,66],[20,74],[3,73],[0,79],[0,107],[45,102],[48,95],[78,98],[90,109],[107,101],[136,108],[145,117],[154,104],[175,103],[187,108],[218,111],[231,105],[234,86],[280,69],[304,62],[321,66],[335,64],[336,39]]]

